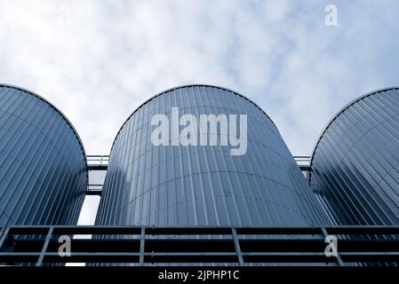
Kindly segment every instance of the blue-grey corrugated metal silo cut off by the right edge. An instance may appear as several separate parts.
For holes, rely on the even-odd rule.
[[[328,123],[310,184],[341,225],[399,225],[399,88],[351,102]]]

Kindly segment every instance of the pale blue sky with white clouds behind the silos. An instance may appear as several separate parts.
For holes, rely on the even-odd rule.
[[[325,25],[334,4],[338,26]],[[292,154],[363,93],[399,85],[399,2],[0,0],[0,82],[36,91],[108,154],[159,91],[210,83],[256,102]],[[98,199],[85,203],[92,223]]]

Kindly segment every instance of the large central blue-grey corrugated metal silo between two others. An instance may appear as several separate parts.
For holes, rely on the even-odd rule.
[[[155,114],[247,114],[248,149],[153,146]],[[180,127],[181,130],[181,127]],[[316,225],[325,217],[267,115],[234,91],[191,85],[140,106],[110,154],[97,225]]]

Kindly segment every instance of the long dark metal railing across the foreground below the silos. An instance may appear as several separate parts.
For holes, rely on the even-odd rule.
[[[79,234],[94,237],[71,239],[61,256],[60,235]],[[336,256],[324,252],[331,235]],[[9,226],[0,228],[0,263],[395,265],[398,236],[399,226]]]

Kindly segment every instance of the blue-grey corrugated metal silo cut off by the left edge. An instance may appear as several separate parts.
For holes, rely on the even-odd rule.
[[[31,91],[0,84],[0,225],[74,225],[84,147],[67,118]]]

